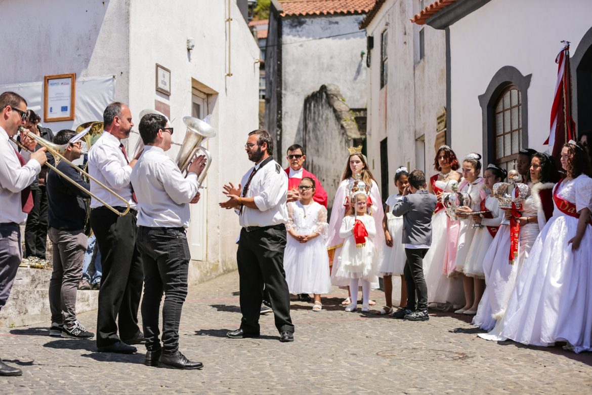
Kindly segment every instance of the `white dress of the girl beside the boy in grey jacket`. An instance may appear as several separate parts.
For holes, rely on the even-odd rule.
[[[387,199],[389,208],[395,205],[397,201],[403,198],[399,194],[390,195]],[[405,255],[405,246],[403,240],[403,216],[395,217],[392,213],[384,213],[387,216],[388,233],[391,235],[392,247],[385,244],[382,249],[382,264],[378,269],[378,274],[385,275],[403,275],[407,256]]]

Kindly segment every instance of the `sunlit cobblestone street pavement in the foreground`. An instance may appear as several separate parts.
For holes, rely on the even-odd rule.
[[[590,393],[592,354],[477,338],[466,320],[431,314],[406,322],[346,313],[333,288],[324,309],[292,300],[295,342],[280,343],[272,314],[261,337],[227,339],[240,323],[238,274],[195,285],[181,321],[181,351],[200,371],[143,365],[134,355],[101,354],[94,341],[49,337],[44,325],[0,329],[0,357],[21,377],[2,393]],[[384,301],[375,291],[377,306]],[[95,331],[96,311],[79,315]]]

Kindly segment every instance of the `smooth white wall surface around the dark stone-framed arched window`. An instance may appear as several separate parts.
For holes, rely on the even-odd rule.
[[[451,31],[452,147],[457,155],[482,151],[478,96],[503,66],[532,74],[528,89],[529,148],[546,149],[561,40],[571,54],[592,26],[592,2],[494,0],[462,18]]]

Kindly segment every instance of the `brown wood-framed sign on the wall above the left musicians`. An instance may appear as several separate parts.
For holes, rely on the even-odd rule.
[[[43,82],[43,121],[73,121],[76,73],[46,75]]]

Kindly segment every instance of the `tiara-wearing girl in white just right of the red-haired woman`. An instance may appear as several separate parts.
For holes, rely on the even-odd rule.
[[[466,214],[471,211],[479,211],[481,207],[481,198],[484,196],[483,191],[485,190],[485,185],[483,184],[483,178],[479,176],[481,173],[480,159],[480,154],[469,153],[469,155],[465,156],[465,159],[462,161],[462,176],[464,178],[458,186],[458,190],[469,194],[471,197],[471,207],[459,207],[457,209],[458,213],[460,213],[461,230],[458,232],[458,251],[456,252],[456,267],[454,268],[454,271],[460,274],[464,273],[465,265],[467,265],[468,261],[472,259],[468,253],[475,232],[477,231],[477,228],[473,227],[475,222],[473,221],[472,216],[467,216]],[[478,281],[477,284],[475,284],[473,277],[463,275],[462,287],[465,291],[465,306],[456,310],[455,313],[462,314],[466,311],[466,314],[475,315],[477,309],[471,310],[475,300],[475,287],[477,287],[477,294],[482,295],[482,287],[484,286],[485,282]]]

